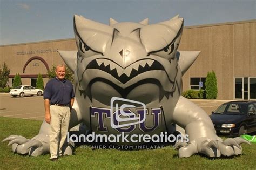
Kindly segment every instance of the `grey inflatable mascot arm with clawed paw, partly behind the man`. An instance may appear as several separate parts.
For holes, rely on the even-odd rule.
[[[76,126],[80,123],[82,117],[80,115],[79,107],[75,103],[71,110],[71,119],[69,127]],[[31,156],[38,156],[43,154],[48,154],[50,152],[49,146],[49,129],[50,125],[43,121],[38,135],[33,137],[32,139],[26,139],[20,135],[10,135],[9,137],[5,138],[4,141],[9,141],[9,145],[12,145],[12,151],[19,153],[19,154],[28,154]],[[73,145],[65,145],[63,146],[64,155],[71,155],[73,151]]]

